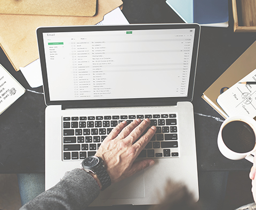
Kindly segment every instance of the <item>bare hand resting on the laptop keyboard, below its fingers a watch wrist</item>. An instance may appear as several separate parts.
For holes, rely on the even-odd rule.
[[[102,158],[112,183],[130,177],[155,163],[153,159],[140,161],[135,161],[135,159],[155,134],[156,127],[149,128],[145,135],[140,137],[150,125],[149,119],[143,121],[137,119],[126,125],[126,121],[119,123],[102,142],[95,154]],[[139,137],[140,139],[138,139]]]

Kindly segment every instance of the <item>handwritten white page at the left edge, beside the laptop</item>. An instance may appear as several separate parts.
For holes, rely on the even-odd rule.
[[[20,83],[0,64],[0,114],[25,93]]]

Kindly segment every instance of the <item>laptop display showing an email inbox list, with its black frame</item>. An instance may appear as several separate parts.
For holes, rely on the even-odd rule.
[[[39,28],[45,94],[57,103],[191,98],[198,31],[196,24]]]

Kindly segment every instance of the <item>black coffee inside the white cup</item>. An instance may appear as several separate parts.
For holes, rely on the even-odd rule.
[[[255,134],[251,126],[243,121],[232,121],[222,129],[225,145],[236,153],[250,152],[255,146]]]

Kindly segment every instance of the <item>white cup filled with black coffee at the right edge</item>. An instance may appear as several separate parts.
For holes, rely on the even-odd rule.
[[[220,127],[218,147],[229,159],[247,159],[253,163],[256,150],[256,121],[249,116],[228,117]]]

